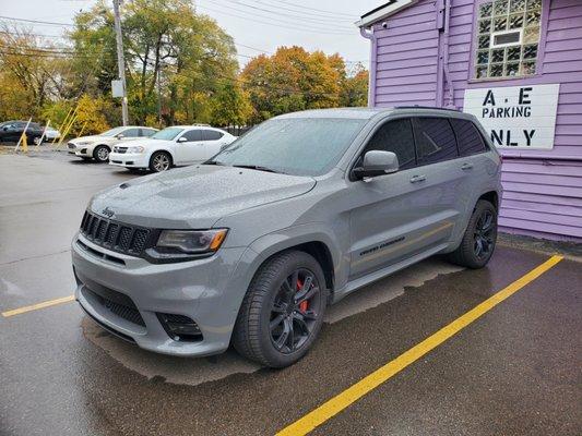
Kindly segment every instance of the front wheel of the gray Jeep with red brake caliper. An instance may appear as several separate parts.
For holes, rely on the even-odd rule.
[[[307,280],[311,286],[304,290]],[[261,365],[289,366],[317,339],[326,303],[319,263],[305,252],[280,253],[254,275],[238,313],[233,344],[239,354]]]

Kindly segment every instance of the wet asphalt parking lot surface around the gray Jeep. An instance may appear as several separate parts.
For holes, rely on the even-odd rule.
[[[90,196],[132,177],[64,154],[0,155],[0,312],[71,295],[69,244]],[[332,306],[313,350],[282,371],[234,351],[145,352],[74,302],[0,316],[0,434],[275,434],[548,258],[498,246],[482,270],[427,259]],[[580,435],[581,292],[582,264],[559,262],[312,434]]]

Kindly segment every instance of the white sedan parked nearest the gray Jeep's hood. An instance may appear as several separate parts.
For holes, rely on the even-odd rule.
[[[109,165],[161,172],[173,166],[207,160],[235,140],[236,136],[221,129],[176,125],[157,132],[149,140],[114,146]]]

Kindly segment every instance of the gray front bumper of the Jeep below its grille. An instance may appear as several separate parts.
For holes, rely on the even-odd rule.
[[[154,265],[110,252],[78,234],[72,244],[75,299],[102,327],[143,349],[183,356],[221,353],[228,348],[248,286],[240,272],[245,268],[239,266],[245,252],[244,247],[221,249],[203,259]],[[129,299],[143,324],[104,303],[95,293],[103,290]],[[157,315],[161,313],[193,319],[202,340],[170,338]]]

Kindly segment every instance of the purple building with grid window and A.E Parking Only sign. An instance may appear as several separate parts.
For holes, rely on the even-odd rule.
[[[361,16],[370,106],[474,113],[506,232],[582,242],[582,0],[392,0]]]

